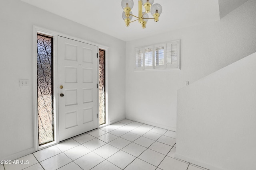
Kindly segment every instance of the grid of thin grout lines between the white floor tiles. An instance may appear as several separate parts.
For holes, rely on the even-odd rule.
[[[135,122],[135,123],[133,123],[133,122]],[[121,123],[121,122],[118,121],[118,122],[116,122],[116,123]],[[131,124],[131,123],[133,123],[134,125]],[[102,145],[102,146],[100,146],[100,147],[103,147],[103,146],[105,146],[106,144],[108,144],[108,145],[110,145],[110,146],[112,146],[112,147],[118,149],[117,152],[121,151],[122,149],[124,149],[125,147],[127,147],[128,145],[130,145],[130,144],[132,144],[132,143],[133,143],[133,144],[136,144],[136,145],[139,145],[139,146],[141,146],[141,147],[144,147],[144,146],[142,146],[142,145],[140,145],[140,144],[134,143],[134,141],[136,141],[137,139],[139,139],[139,138],[141,138],[141,137],[144,137],[143,135],[145,135],[146,133],[149,133],[149,132],[153,133],[153,134],[151,134],[151,135],[152,135],[152,138],[154,138],[154,134],[160,135],[160,137],[158,137],[157,139],[150,139],[149,137],[151,137],[151,136],[149,136],[149,137],[144,137],[144,138],[150,139],[150,140],[152,140],[152,141],[154,141],[154,142],[153,142],[151,145],[149,145],[148,147],[144,147],[144,148],[146,148],[146,149],[145,149],[142,153],[140,153],[138,156],[134,156],[134,155],[132,155],[132,154],[130,154],[130,153],[128,153],[128,152],[122,150],[122,152],[125,152],[125,153],[127,153],[127,154],[129,154],[129,155],[135,157],[134,160],[132,160],[132,162],[134,162],[137,158],[138,158],[139,160],[142,160],[142,159],[139,158],[139,156],[142,155],[146,150],[150,149],[150,147],[151,147],[152,145],[154,145],[156,142],[161,143],[161,144],[164,144],[164,145],[168,145],[168,144],[166,144],[166,143],[162,143],[162,142],[160,142],[160,141],[157,141],[157,140],[159,140],[161,137],[163,137],[163,136],[165,136],[165,137],[170,137],[170,136],[172,136],[172,137],[170,137],[170,138],[176,140],[176,138],[174,138],[174,136],[173,136],[172,134],[170,134],[170,133],[168,133],[169,136],[164,135],[164,134],[166,134],[168,131],[170,131],[170,130],[168,130],[168,129],[164,129],[164,130],[166,130],[166,131],[165,131],[163,134],[161,134],[161,133],[156,133],[156,132],[153,132],[153,131],[152,131],[152,129],[154,129],[154,128],[160,128],[160,127],[155,127],[155,126],[152,126],[152,125],[148,125],[148,126],[150,126],[150,127],[152,127],[152,128],[150,129],[150,128],[145,127],[145,129],[144,129],[144,128],[140,128],[140,127],[142,127],[143,125],[147,125],[147,124],[141,123],[139,126],[137,126],[138,124],[136,124],[136,123],[140,123],[140,122],[131,121],[130,123],[127,123],[127,124],[126,124],[126,123],[122,123],[122,124],[124,124],[124,125],[122,125],[122,126],[116,128],[116,129],[113,129],[113,130],[111,130],[111,131],[109,131],[109,132],[108,132],[108,131],[104,131],[104,130],[102,130],[101,128],[99,128],[99,129],[94,129],[94,130],[92,130],[92,131],[101,130],[101,131],[104,131],[104,132],[105,132],[103,135],[106,135],[106,134],[114,135],[114,134],[111,133],[112,131],[118,130],[118,129],[120,129],[120,128],[126,126],[126,125],[129,126],[129,127],[127,127],[127,129],[129,129],[129,131],[127,131],[126,133],[122,134],[121,136],[114,135],[114,136],[116,137],[115,139],[113,139],[113,140],[111,140],[111,141],[108,141],[108,142],[103,141],[105,144]],[[107,126],[109,126],[109,125],[107,125]],[[105,127],[107,127],[107,126],[105,126]],[[132,129],[131,129],[131,128],[132,128]],[[142,135],[138,135],[138,134],[132,132],[132,131],[134,131],[134,130],[137,129],[137,128],[140,128],[140,129],[138,129],[137,132],[138,132],[138,133],[142,132]],[[124,128],[124,129],[125,129],[125,128]],[[160,129],[163,129],[163,128],[160,128]],[[162,130],[160,130],[160,129],[156,129],[156,131],[158,132],[158,130],[159,130],[159,132],[161,132]],[[106,130],[107,130],[107,129],[106,129]],[[141,131],[140,131],[140,130],[141,130]],[[143,133],[144,130],[146,131],[145,133]],[[76,137],[82,136],[82,135],[84,135],[84,134],[88,134],[88,133],[90,133],[90,132],[92,132],[92,131],[89,131],[89,132],[86,132],[86,133],[82,133],[82,134],[80,134],[80,135],[77,135]],[[120,131],[122,131],[122,129],[121,129]],[[135,132],[135,131],[134,131],[134,132]],[[133,140],[133,141],[130,141],[130,140],[127,140],[127,139],[122,138],[122,136],[126,135],[127,133],[132,133],[132,134],[134,134],[134,135],[138,135],[139,137],[136,138],[136,139]],[[88,135],[90,135],[90,134],[88,134]],[[98,137],[101,137],[101,136],[102,136],[102,135],[100,135],[100,136],[98,136]],[[70,148],[70,149],[68,149],[68,150],[74,149],[75,147],[78,147],[78,146],[80,146],[80,145],[82,145],[83,147],[85,147],[86,149],[88,149],[88,148],[87,148],[86,146],[84,146],[83,144],[84,144],[84,143],[87,143],[87,142],[89,142],[89,141],[92,141],[92,140],[94,140],[94,139],[98,139],[98,137],[94,137],[93,135],[90,135],[90,137],[94,137],[94,139],[90,139],[89,141],[86,141],[86,142],[84,142],[84,143],[79,143],[78,141],[76,141],[76,140],[74,139],[74,138],[76,138],[76,137],[72,137],[72,138],[70,138],[70,139],[67,139],[67,140],[65,140],[65,141],[62,141],[61,143],[73,139],[76,143],[78,143],[78,145],[77,145],[77,146],[74,146],[74,147],[72,147],[72,148]],[[86,138],[84,138],[84,139],[86,139]],[[122,147],[122,148],[120,147],[121,149],[119,149],[119,148],[115,147],[114,145],[111,145],[111,144],[110,144],[110,142],[112,142],[112,141],[114,141],[114,140],[116,140],[116,139],[124,139],[124,140],[126,140],[126,141],[129,141],[129,143],[128,143],[128,145],[125,145],[125,146]],[[167,139],[167,138],[166,138],[166,139]],[[98,139],[98,140],[102,141],[101,139]],[[168,141],[168,140],[167,140],[167,141]],[[164,142],[166,142],[166,141],[164,140]],[[58,143],[58,144],[61,144],[61,143]],[[56,144],[56,145],[58,145],[58,144]],[[56,147],[56,145],[53,145],[53,146]],[[149,161],[149,162],[147,162],[147,161],[145,161],[145,160],[142,160],[142,161],[143,161],[143,162],[146,162],[146,163],[148,163],[148,164],[150,164],[150,165],[156,167],[156,169],[158,169],[159,166],[160,166],[160,164],[163,162],[163,160],[166,158],[166,156],[171,152],[171,150],[174,148],[175,145],[176,145],[176,142],[174,143],[173,146],[168,145],[168,146],[171,147],[171,149],[167,152],[167,154],[163,154],[163,155],[164,155],[164,158],[162,159],[162,161],[160,161],[160,163],[158,164],[158,166],[155,166],[155,165],[149,163],[150,161]],[[161,146],[161,145],[160,145],[160,146]],[[96,149],[99,149],[100,147],[98,147],[98,148],[96,148]],[[47,147],[47,148],[49,148],[49,147]],[[47,149],[47,148],[45,148],[45,149]],[[57,148],[58,150],[60,150],[58,147],[56,147],[56,148]],[[96,149],[94,149],[94,150],[90,150],[90,149],[89,149],[90,152],[88,152],[88,153],[86,153],[86,154],[89,154],[89,153],[91,153],[91,152],[93,152],[94,154],[97,154],[96,152],[94,152]],[[66,151],[68,151],[68,150],[64,150],[64,151],[60,150],[60,153],[58,153],[58,154],[56,154],[56,155],[54,155],[54,156],[57,156],[57,155],[59,155],[59,154],[61,154],[61,153],[64,153],[64,152],[66,152]],[[156,150],[150,149],[150,150],[155,151],[155,152],[157,152],[157,153],[159,153],[159,154],[162,154],[162,153],[156,151],[157,149],[156,149]],[[40,151],[40,150],[38,150],[38,151]],[[160,150],[160,151],[162,152],[162,150]],[[165,152],[166,150],[164,149],[163,151]],[[114,152],[114,154],[116,154],[117,152]],[[42,169],[44,169],[44,170],[45,170],[45,168],[42,166],[41,162],[43,162],[43,161],[45,161],[45,160],[48,160],[48,159],[54,157],[54,156],[50,156],[49,158],[46,158],[46,159],[42,160],[41,162],[39,162],[38,159],[36,158],[36,156],[34,155],[34,153],[36,153],[36,152],[33,152],[32,155],[33,155],[34,158],[37,160],[37,163],[39,163],[40,167],[41,167]],[[83,153],[84,153],[84,152],[83,152]],[[139,153],[139,152],[138,152],[138,153]],[[86,154],[84,154],[84,155],[82,155],[82,156],[85,156]],[[111,154],[110,156],[108,156],[108,158],[110,158],[110,157],[113,156],[114,154]],[[79,158],[76,158],[75,160],[72,160],[66,153],[64,153],[64,155],[67,156],[67,157],[71,160],[71,162],[68,162],[67,164],[65,164],[65,165],[63,165],[63,166],[58,167],[58,169],[60,169],[60,168],[62,168],[62,167],[64,167],[64,166],[66,166],[66,165],[68,165],[68,164],[70,164],[70,163],[74,162],[75,160],[77,160],[77,159],[79,159],[79,158],[82,157],[82,156],[80,156]],[[97,154],[97,155],[100,156],[99,154]],[[100,157],[103,158],[102,156],[100,156]],[[168,156],[168,157],[170,157],[170,156]],[[93,166],[92,168],[98,166],[99,164],[101,164],[101,163],[104,162],[105,160],[108,161],[108,160],[107,160],[108,158],[103,158],[103,160],[102,160],[100,163],[96,164],[96,165]],[[172,158],[172,157],[170,157],[170,158]],[[174,159],[176,159],[176,158],[174,158]],[[176,159],[176,160],[179,160],[179,159]],[[179,160],[179,161],[188,164],[188,167],[186,168],[186,170],[188,170],[190,166],[193,166],[190,162],[186,162],[186,161],[182,161],[182,160]],[[120,168],[120,167],[117,166],[116,164],[114,164],[114,163],[112,163],[112,162],[110,162],[110,161],[108,161],[108,162],[111,163],[112,165],[114,165],[114,166]],[[130,162],[130,163],[129,163],[127,166],[125,166],[123,169],[127,168],[130,164],[132,164],[132,162]],[[36,163],[36,164],[37,164],[37,163]],[[31,166],[34,166],[34,165],[36,165],[36,164],[33,164],[33,165],[31,165]],[[76,162],[74,162],[74,164],[76,164]],[[80,167],[78,164],[76,164],[76,165],[77,165],[78,167]],[[26,167],[26,168],[29,168],[29,167],[31,167],[31,166],[28,166],[28,167]],[[6,167],[5,167],[4,164],[3,164],[3,168],[4,168],[4,170],[6,170]],[[26,168],[24,168],[24,169],[26,169]],[[80,167],[80,168],[81,168],[81,167]],[[90,168],[90,169],[92,169],[92,168]],[[198,167],[198,168],[201,169],[201,167]],[[24,170],[24,169],[22,169],[22,170]],[[122,169],[122,168],[120,168],[120,169]],[[155,169],[155,170],[156,170],[156,169]],[[159,168],[159,169],[161,169],[161,168]],[[162,169],[161,169],[161,170],[162,170]]]

